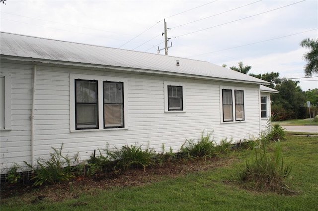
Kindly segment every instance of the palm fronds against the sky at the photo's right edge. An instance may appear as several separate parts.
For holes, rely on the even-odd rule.
[[[300,46],[310,50],[304,54],[304,59],[308,61],[304,72],[306,77],[312,77],[313,73],[318,73],[318,39],[304,39]]]

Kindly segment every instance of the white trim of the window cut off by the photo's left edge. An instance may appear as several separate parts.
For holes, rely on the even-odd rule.
[[[4,127],[1,131],[11,130],[11,73],[1,72],[4,76]]]

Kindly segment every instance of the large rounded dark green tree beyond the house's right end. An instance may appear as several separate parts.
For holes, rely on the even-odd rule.
[[[307,109],[306,94],[297,86],[299,81],[282,79],[280,84],[275,86],[279,91],[271,95],[272,113],[278,113],[278,120],[305,118]]]

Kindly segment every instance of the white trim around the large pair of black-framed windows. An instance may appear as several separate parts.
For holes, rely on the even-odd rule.
[[[75,79],[95,80],[98,81],[98,129],[75,129]],[[104,128],[104,109],[103,109],[103,81],[123,82],[124,83],[124,125],[123,128]],[[100,75],[85,75],[70,73],[70,131],[105,131],[105,130],[127,130],[128,129],[128,81],[125,78],[100,76]]]

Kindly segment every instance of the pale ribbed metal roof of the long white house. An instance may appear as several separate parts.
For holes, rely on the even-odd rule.
[[[0,32],[1,57],[74,62],[242,83],[269,84],[206,61]],[[176,65],[179,60],[179,66]]]

